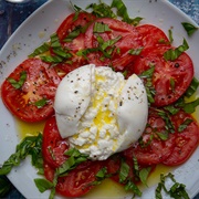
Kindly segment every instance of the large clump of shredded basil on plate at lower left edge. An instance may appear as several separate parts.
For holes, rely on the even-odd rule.
[[[32,156],[33,166],[36,168],[43,167],[41,164],[41,134],[38,136],[28,136],[22,139],[22,142],[17,145],[15,153],[3,163],[2,168],[0,168],[0,176],[8,175],[14,166],[19,166],[21,160],[25,159],[29,155]]]

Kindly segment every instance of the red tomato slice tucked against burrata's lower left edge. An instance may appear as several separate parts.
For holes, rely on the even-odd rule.
[[[61,166],[67,157],[64,151],[69,149],[69,145],[65,139],[60,136],[55,117],[51,117],[46,121],[43,130],[42,154],[44,160],[53,168]]]

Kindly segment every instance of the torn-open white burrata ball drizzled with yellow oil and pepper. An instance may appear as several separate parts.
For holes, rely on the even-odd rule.
[[[135,143],[147,123],[142,80],[128,80],[107,66],[84,65],[69,73],[55,95],[60,134],[71,147],[103,160]]]

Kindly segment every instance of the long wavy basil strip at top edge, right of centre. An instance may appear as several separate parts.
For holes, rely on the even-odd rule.
[[[130,19],[128,13],[127,13],[127,8],[124,4],[124,2],[122,0],[113,0],[112,8],[116,8],[117,9],[117,15],[123,18],[123,21],[133,24],[133,25],[137,25],[139,23],[140,20],[143,20],[143,18],[135,18],[135,19]]]

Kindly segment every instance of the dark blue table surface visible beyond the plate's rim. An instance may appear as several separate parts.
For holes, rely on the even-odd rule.
[[[199,0],[169,1],[199,24]],[[6,0],[0,0],[0,50],[15,29],[44,2],[46,2],[46,0],[29,0],[25,3],[10,3],[6,2]],[[4,198],[24,199],[13,186]],[[199,199],[199,195],[197,195],[195,199]]]

